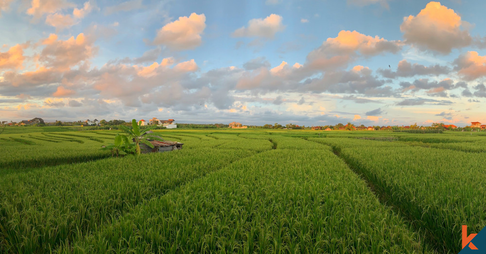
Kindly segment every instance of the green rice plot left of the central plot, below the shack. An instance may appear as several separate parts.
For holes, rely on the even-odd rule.
[[[3,174],[0,246],[6,253],[50,252],[130,207],[255,153],[200,146]]]

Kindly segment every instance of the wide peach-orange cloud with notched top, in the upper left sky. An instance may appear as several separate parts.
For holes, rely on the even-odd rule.
[[[71,36],[68,40],[59,40],[57,35],[51,34],[42,42],[46,47],[39,55],[39,61],[46,66],[60,69],[68,69],[92,58],[98,48],[84,33],[78,34],[76,38]]]

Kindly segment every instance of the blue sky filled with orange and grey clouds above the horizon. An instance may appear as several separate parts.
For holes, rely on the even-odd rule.
[[[483,0],[0,0],[0,121],[486,122]]]

